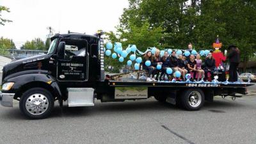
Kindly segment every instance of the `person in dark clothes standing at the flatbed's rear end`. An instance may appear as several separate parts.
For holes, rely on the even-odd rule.
[[[228,53],[228,60],[230,62],[229,65],[229,81],[235,82],[237,81],[237,67],[240,62],[240,51],[236,47],[236,45],[230,45],[228,47],[229,53]]]

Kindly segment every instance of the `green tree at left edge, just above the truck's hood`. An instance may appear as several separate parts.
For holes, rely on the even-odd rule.
[[[4,55],[7,54],[8,49],[16,49],[15,44],[13,40],[8,38],[3,38],[3,36],[0,38],[0,54]]]

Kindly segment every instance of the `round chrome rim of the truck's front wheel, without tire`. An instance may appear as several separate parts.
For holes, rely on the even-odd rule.
[[[26,109],[31,115],[42,115],[49,106],[49,101],[45,95],[35,93],[26,100]]]

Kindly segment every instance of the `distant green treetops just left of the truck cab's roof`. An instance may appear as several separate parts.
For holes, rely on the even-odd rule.
[[[48,47],[45,47],[44,41],[41,38],[35,38],[34,40],[25,42],[22,45],[22,49],[47,50]]]

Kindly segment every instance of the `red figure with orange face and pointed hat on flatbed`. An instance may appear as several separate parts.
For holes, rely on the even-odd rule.
[[[217,68],[222,67],[223,63],[222,61],[226,61],[226,56],[220,51],[222,44],[219,41],[219,36],[217,36],[216,43],[212,44],[212,47],[214,47],[215,51],[212,52],[212,57],[215,59],[215,66]]]

